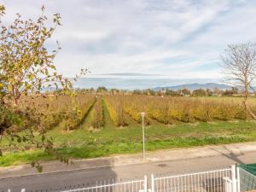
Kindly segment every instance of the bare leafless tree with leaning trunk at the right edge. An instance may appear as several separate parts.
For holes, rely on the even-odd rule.
[[[247,105],[247,97],[253,90],[253,81],[256,78],[256,44],[230,44],[221,55],[223,61],[220,66],[224,69],[225,80],[243,88],[245,114],[249,113],[253,119],[256,115]],[[255,92],[255,91],[254,91]]]

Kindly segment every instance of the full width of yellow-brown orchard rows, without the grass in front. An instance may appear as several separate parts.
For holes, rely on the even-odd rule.
[[[117,127],[129,125],[130,116],[140,124],[141,112],[146,112],[145,122],[150,125],[154,119],[164,125],[176,122],[193,123],[210,122],[214,120],[245,119],[241,97],[181,97],[181,96],[98,96],[79,94],[73,100],[70,96],[36,96],[26,97],[21,105],[35,103],[37,110],[42,114],[43,125],[48,130],[60,125],[64,130],[73,130],[79,127],[90,113],[90,125],[94,128],[104,126],[104,110],[106,106],[110,119]],[[254,98],[249,105],[256,112]],[[72,104],[73,103],[73,104]],[[75,103],[75,104],[74,104]],[[91,110],[90,110],[91,109]]]

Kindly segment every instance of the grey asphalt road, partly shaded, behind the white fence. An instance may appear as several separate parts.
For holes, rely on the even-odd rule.
[[[209,169],[225,168],[236,163],[255,163],[256,152],[244,154],[222,154],[212,157],[201,157],[189,160],[172,160],[156,163],[145,163],[130,166],[103,167],[73,172],[39,174],[26,177],[0,179],[0,191],[11,192],[26,189],[26,191],[56,191],[65,187],[74,188],[94,184],[96,181],[128,180],[144,175],[166,175],[185,172],[200,172]]]

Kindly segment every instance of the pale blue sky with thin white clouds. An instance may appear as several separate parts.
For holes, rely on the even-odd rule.
[[[61,14],[59,72],[73,77],[127,73],[173,79],[220,79],[228,44],[256,41],[254,0],[0,0],[3,24],[15,13],[35,19]],[[104,74],[104,75],[102,75]]]

